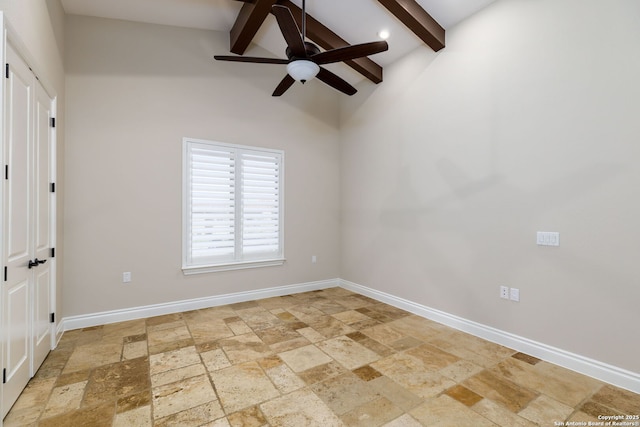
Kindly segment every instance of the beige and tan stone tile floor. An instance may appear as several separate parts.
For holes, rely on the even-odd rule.
[[[557,426],[640,395],[341,288],[69,331],[10,426]]]

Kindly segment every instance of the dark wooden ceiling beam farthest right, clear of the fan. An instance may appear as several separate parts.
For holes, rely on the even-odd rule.
[[[416,0],[378,0],[435,52],[444,48],[445,31]]]

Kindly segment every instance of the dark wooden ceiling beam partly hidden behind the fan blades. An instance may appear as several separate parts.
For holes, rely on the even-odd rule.
[[[302,28],[302,9],[290,0],[279,0],[278,4],[288,7],[291,13],[293,13],[298,28]],[[307,37],[324,50],[349,46],[349,43],[309,14],[307,14],[306,24]],[[358,58],[351,61],[344,61],[344,63],[374,83],[380,83],[382,81],[382,67],[369,58]]]

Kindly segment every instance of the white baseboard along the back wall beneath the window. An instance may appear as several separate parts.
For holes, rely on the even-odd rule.
[[[220,305],[235,304],[238,302],[334,288],[338,286],[338,280],[339,279],[321,280],[318,282],[278,286],[274,288],[236,292],[233,294],[195,298],[164,304],[153,304],[121,310],[103,311],[101,313],[82,314],[79,316],[65,317],[62,319],[61,324],[63,330],[70,331],[73,329],[88,328],[91,326],[106,325],[109,323],[124,322],[127,320],[144,319],[146,317],[162,316],[164,314],[181,313],[189,310],[199,310],[202,308],[217,307]]]

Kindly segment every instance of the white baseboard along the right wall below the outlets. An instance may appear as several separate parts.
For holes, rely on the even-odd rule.
[[[401,308],[410,313],[417,314],[418,316],[442,323],[443,325],[467,332],[479,338],[486,339],[487,341],[521,351],[547,362],[571,369],[572,371],[630,390],[634,393],[640,393],[640,374],[638,373],[539,343],[462,317],[454,316],[353,282],[340,279],[339,286]]]

